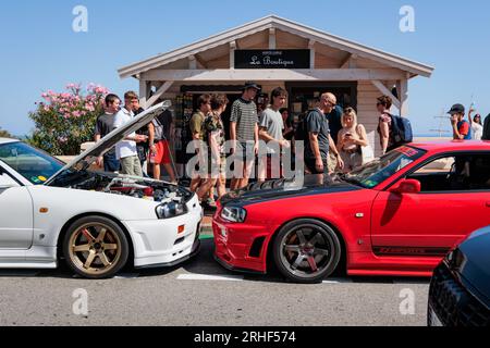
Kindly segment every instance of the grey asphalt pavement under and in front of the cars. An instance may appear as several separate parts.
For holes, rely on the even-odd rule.
[[[213,241],[173,269],[125,270],[107,281],[0,270],[0,326],[425,326],[427,278],[347,277],[291,284],[212,259]]]

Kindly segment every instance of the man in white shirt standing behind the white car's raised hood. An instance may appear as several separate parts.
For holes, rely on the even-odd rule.
[[[119,128],[133,120],[135,108],[139,107],[138,100],[139,98],[134,91],[128,91],[124,95],[124,108],[115,115],[114,128]],[[143,176],[136,142],[145,142],[147,140],[147,136],[133,133],[126,136],[123,141],[118,142],[115,154],[121,161],[121,174]]]

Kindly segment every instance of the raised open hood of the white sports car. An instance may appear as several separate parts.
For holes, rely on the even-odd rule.
[[[169,109],[172,105],[170,101],[164,101],[155,107],[149,108],[144,111],[134,120],[128,122],[127,124],[112,130],[106,137],[103,137],[99,142],[95,144],[91,148],[86,150],[81,156],[76,157],[73,161],[68,163],[63,169],[61,169],[58,173],[51,176],[46,185],[49,185],[52,181],[57,178],[61,173],[72,170],[72,171],[85,171],[93,163],[97,161],[97,158],[103,156],[110,149],[112,149],[118,142],[122,141],[126,136],[133,134],[134,132],[140,129],[148,123],[150,123],[156,116],[160,115],[163,111]]]

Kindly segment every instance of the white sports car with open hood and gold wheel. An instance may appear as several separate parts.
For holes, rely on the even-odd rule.
[[[107,278],[128,260],[171,266],[198,252],[203,210],[195,194],[159,181],[89,166],[148,124],[156,105],[71,163],[22,141],[0,139],[0,269],[56,269]]]

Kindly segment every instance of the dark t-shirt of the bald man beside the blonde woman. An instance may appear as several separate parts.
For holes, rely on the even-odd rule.
[[[318,147],[320,149],[320,156],[322,160],[328,160],[329,158],[329,121],[327,116],[320,110],[311,110],[306,116],[306,132],[308,135],[310,133],[318,134]],[[305,159],[315,160],[315,152],[311,148],[311,142],[309,137],[305,140]]]

